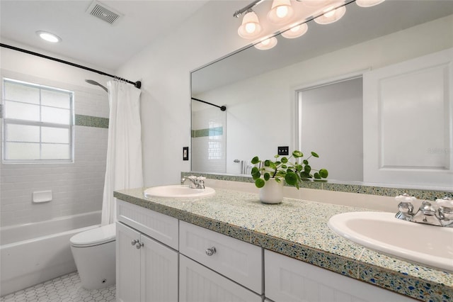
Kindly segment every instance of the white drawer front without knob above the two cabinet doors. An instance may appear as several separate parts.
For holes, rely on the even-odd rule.
[[[117,199],[117,220],[178,250],[178,219]]]

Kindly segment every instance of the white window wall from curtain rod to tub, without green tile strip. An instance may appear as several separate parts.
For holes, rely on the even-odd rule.
[[[74,91],[75,114],[108,118],[107,94],[84,82],[105,77],[5,48],[0,59],[2,77]],[[74,163],[0,165],[1,226],[101,210],[108,129],[74,127]],[[52,201],[32,203],[33,191],[45,190]]]

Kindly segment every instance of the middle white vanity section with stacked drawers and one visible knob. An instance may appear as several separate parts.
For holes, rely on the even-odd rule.
[[[260,247],[180,221],[179,261],[181,302],[262,301]]]

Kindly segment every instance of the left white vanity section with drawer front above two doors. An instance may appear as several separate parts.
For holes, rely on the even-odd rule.
[[[178,220],[122,201],[117,218],[117,301],[178,301]]]

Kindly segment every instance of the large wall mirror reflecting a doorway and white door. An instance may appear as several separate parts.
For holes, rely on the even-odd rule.
[[[330,181],[452,191],[452,2],[351,2],[307,24],[191,74],[193,98],[226,106],[192,101],[192,170],[249,174],[289,146]]]

